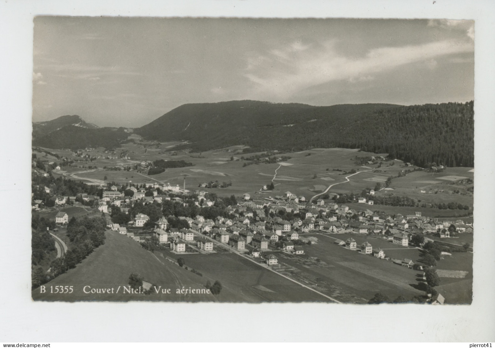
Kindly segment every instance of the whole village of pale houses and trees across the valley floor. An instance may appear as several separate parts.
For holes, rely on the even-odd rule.
[[[98,187],[100,196],[53,196],[53,207],[43,207],[43,202],[34,201],[32,208],[41,212],[50,210],[51,214],[56,211],[54,222],[63,230],[72,218],[67,207],[90,205],[94,214],[105,216],[109,230],[131,238],[146,249],[164,248],[172,258],[236,253],[294,279],[294,274],[288,271],[295,269],[294,260],[296,263],[316,260],[324,264],[319,255],[308,253],[313,250],[312,245],[321,243],[322,237],[331,239],[333,245],[349,253],[357,252],[420,271],[434,265],[428,262],[436,262],[425,261],[425,257],[414,258],[407,250],[423,251],[427,244],[441,243],[444,250],[472,251],[469,243],[461,246],[446,242],[464,234],[472,236],[473,225],[462,220],[439,220],[423,216],[421,212],[405,216],[385,214],[373,211],[370,199],[358,199],[362,209],[351,209],[346,204],[335,203],[338,195],[309,202],[290,191],[284,196],[264,198],[245,194],[231,197],[235,202],[227,200],[231,204],[225,204],[222,198],[204,190],[205,184],[198,186],[199,189],[192,192],[185,186],[169,183],[107,184]],[[45,186],[43,190],[49,194],[51,189]],[[269,185],[260,188],[260,192],[267,190]],[[367,192],[367,197],[373,195],[374,190]],[[172,205],[187,208],[187,214],[165,215],[166,206]],[[147,209],[153,213],[146,214]],[[201,209],[208,212],[208,216],[191,215]],[[215,212],[218,215],[214,216]],[[394,251],[392,255],[388,254],[389,249]],[[326,252],[332,250],[327,248]],[[447,257],[452,253],[442,251],[440,255]],[[445,298],[437,294],[434,301],[443,303]]]

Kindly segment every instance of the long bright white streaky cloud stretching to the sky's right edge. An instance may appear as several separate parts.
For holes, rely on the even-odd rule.
[[[347,57],[337,52],[332,41],[306,46],[304,50],[294,50],[294,45],[289,45],[248,59],[244,76],[252,82],[255,95],[284,98],[331,81],[367,81],[377,73],[414,62],[428,62],[427,66],[432,68],[435,57],[473,50],[472,42],[446,40],[376,48],[361,57]]]

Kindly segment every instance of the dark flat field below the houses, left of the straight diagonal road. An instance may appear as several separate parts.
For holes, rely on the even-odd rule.
[[[169,257],[178,257],[165,252]],[[328,298],[301,287],[235,253],[191,254],[181,256],[188,267],[203,274],[204,282],[222,283],[219,301],[323,301]],[[258,259],[261,261],[260,259]]]

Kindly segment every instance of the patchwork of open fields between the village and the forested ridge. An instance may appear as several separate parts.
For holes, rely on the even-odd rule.
[[[179,144],[178,142],[161,143],[158,149],[150,147],[151,144],[152,143],[149,143],[148,148],[145,148],[143,145],[128,143],[124,144],[122,148],[116,149],[116,153],[126,150],[130,156],[129,160],[100,158],[92,162],[80,162],[76,165],[96,165],[98,167],[103,167],[122,163],[133,165],[143,160],[183,159],[187,162],[192,162],[193,166],[169,168],[163,173],[150,177],[147,176],[146,170],[143,173],[138,173],[135,170],[129,172],[95,170],[77,174],[77,176],[95,180],[103,180],[106,176],[106,182],[133,182],[137,184],[162,182],[180,184],[181,186],[184,177],[186,177],[186,189],[192,191],[196,190],[198,185],[203,182],[218,180],[222,183],[224,181],[231,181],[232,186],[230,187],[209,189],[209,191],[220,196],[236,195],[237,197],[240,197],[245,193],[249,193],[251,196],[255,195],[254,197],[259,195],[260,198],[281,195],[288,190],[297,196],[302,195],[309,198],[323,192],[331,184],[337,184],[332,187],[331,192],[354,192],[355,194],[359,194],[363,189],[373,188],[376,183],[383,184],[389,176],[394,176],[390,186],[393,190],[382,190],[377,192],[377,196],[394,194],[421,200],[421,203],[448,203],[454,201],[470,207],[473,205],[472,193],[466,190],[472,185],[458,184],[450,180],[444,180],[445,178],[452,179],[457,177],[472,179],[474,175],[474,173],[470,171],[472,168],[467,167],[446,168],[441,173],[416,171],[397,178],[399,171],[410,169],[410,167],[406,167],[402,161],[395,160],[383,162],[380,168],[378,168],[378,165],[361,166],[354,162],[355,156],[385,156],[386,154],[375,154],[358,151],[357,149],[339,148],[278,153],[277,156],[287,155],[291,158],[283,163],[250,164],[243,167],[243,164],[246,163],[246,161],[230,160],[232,155],[240,158],[241,156],[248,157],[253,154],[243,154],[239,152],[243,146],[190,154],[186,151],[174,151],[174,146]],[[91,155],[108,155],[102,148],[91,150],[91,152],[88,153]],[[391,165],[391,163],[394,163],[394,165]],[[342,171],[336,171],[334,169],[340,169]],[[348,172],[351,169],[360,171],[360,173],[352,176],[350,181],[346,182],[346,174],[343,171]],[[80,171],[81,168],[64,167],[63,170],[67,170],[67,175]],[[276,170],[276,177],[273,180],[275,190],[260,193],[259,190],[263,185],[269,184],[272,181]],[[457,190],[459,193],[454,193]],[[425,193],[421,193],[421,191],[425,191]],[[365,205],[361,204],[357,206],[361,208]],[[366,206],[366,208],[370,207]],[[422,211],[423,209],[425,215],[430,214],[435,217],[461,216],[467,212],[457,209],[440,210],[417,207],[380,207],[377,205],[372,207],[371,210],[383,210],[385,212],[395,213],[395,211],[398,212],[398,209],[400,209],[401,213],[403,213],[402,211]]]

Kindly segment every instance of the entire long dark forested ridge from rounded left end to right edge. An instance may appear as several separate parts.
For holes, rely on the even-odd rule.
[[[252,151],[360,148],[419,166],[474,166],[473,102],[311,106],[253,100],[185,104],[136,133],[187,140],[194,151],[244,144]]]

